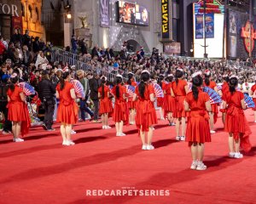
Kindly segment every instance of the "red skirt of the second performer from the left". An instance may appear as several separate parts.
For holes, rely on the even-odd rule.
[[[66,123],[68,125],[73,125],[78,121],[78,105],[73,102],[70,105],[64,105],[60,103],[57,111],[57,122]]]

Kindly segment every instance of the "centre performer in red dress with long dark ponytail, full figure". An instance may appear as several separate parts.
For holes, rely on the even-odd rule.
[[[157,117],[154,109],[154,88],[152,85],[148,84],[149,79],[150,73],[148,71],[143,71],[141,82],[136,88],[133,97],[134,101],[138,99],[135,120],[143,142],[143,150],[154,150],[154,146],[151,142],[153,137],[153,125],[157,124]],[[148,134],[147,143],[146,134]]]

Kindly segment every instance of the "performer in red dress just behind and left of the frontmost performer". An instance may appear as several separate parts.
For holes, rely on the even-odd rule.
[[[186,94],[189,93],[188,83],[182,79],[183,70],[177,69],[175,73],[175,82],[172,82],[172,93],[176,100],[175,111],[173,112],[173,117],[176,120],[176,139],[185,140],[185,130],[186,130],[186,113],[184,111],[184,99]],[[182,131],[180,134],[180,124],[182,125]]]

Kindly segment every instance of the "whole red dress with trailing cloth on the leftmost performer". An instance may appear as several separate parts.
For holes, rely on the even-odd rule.
[[[14,92],[9,88],[7,94],[9,96],[8,108],[8,119],[11,122],[21,122],[21,135],[28,133],[29,127],[31,126],[30,116],[27,110],[26,103],[20,99],[20,93],[22,89],[15,85]]]

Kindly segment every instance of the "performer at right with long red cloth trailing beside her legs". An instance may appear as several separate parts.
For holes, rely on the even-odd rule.
[[[230,134],[229,156],[239,159],[243,157],[239,151],[240,149],[244,151],[251,149],[249,135],[252,132],[243,111],[246,109],[244,94],[236,91],[237,85],[238,77],[230,77],[230,92],[224,94],[224,108],[227,109],[224,131]]]

